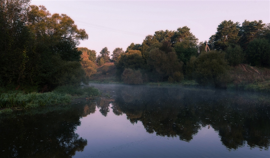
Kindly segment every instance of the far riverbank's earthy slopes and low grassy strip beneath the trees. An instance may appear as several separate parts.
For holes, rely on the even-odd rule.
[[[270,69],[268,68],[239,64],[231,67],[228,74],[229,81],[224,87],[228,90],[270,93]],[[125,84],[117,78],[116,67],[113,63],[98,67],[97,73],[91,76],[90,83]],[[195,80],[185,78],[181,82],[143,82],[143,85],[214,87],[214,85],[200,85]]]

